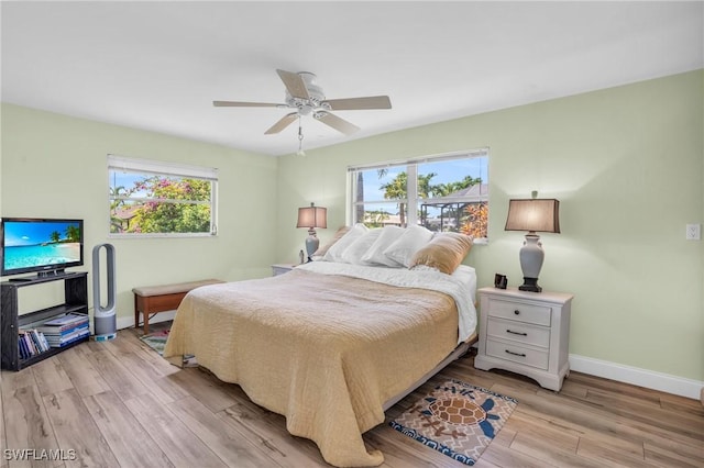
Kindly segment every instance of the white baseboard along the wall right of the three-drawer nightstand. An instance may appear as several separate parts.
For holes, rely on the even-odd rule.
[[[573,354],[570,355],[570,369],[618,382],[663,391],[666,393],[679,394],[693,400],[702,398],[702,391],[704,391],[704,381]]]

